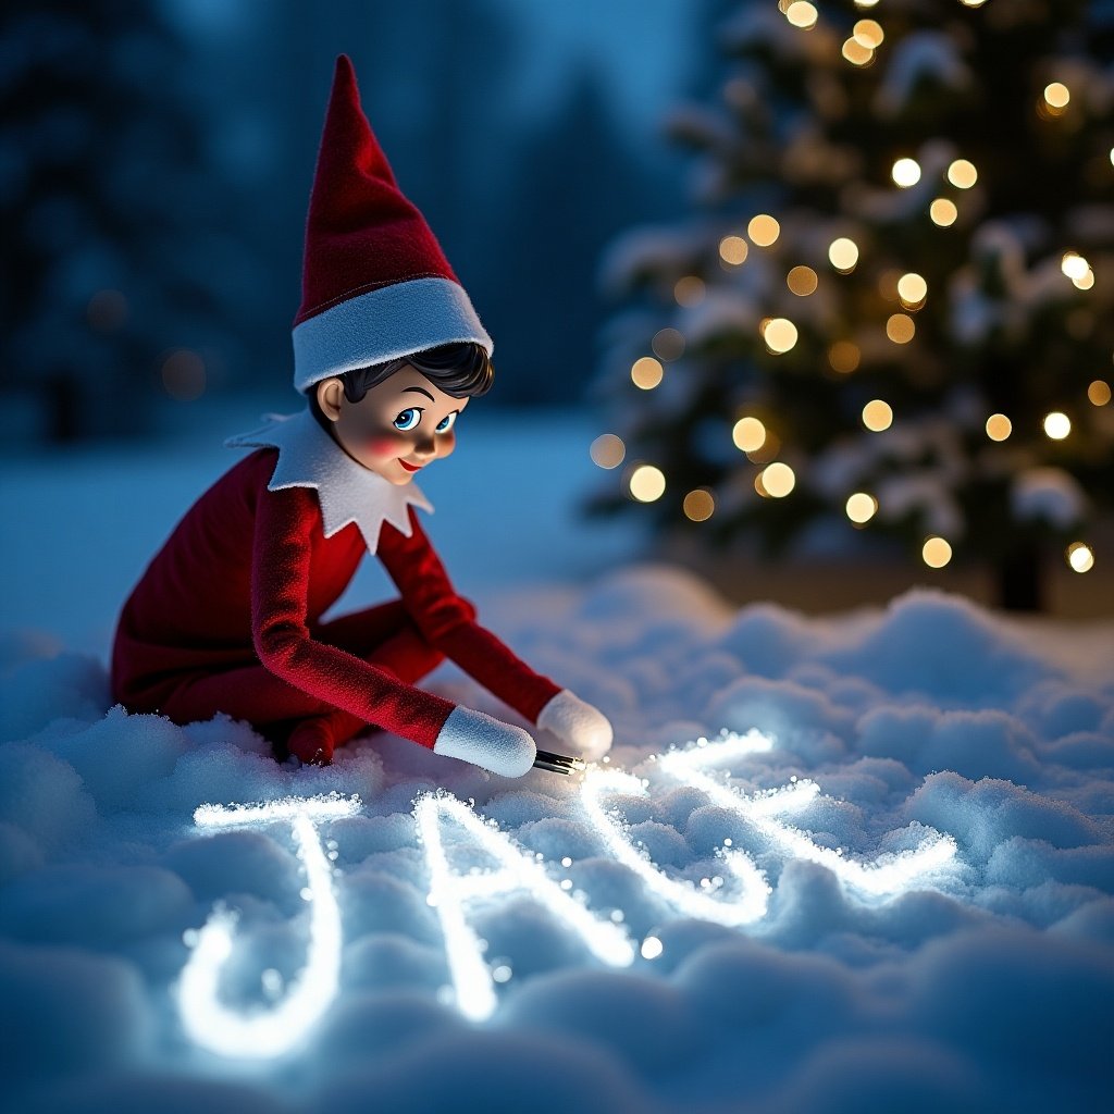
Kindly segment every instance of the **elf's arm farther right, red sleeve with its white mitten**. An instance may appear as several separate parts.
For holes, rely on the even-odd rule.
[[[379,556],[423,637],[488,692],[588,759],[612,745],[612,725],[592,705],[536,673],[501,639],[476,623],[476,609],[457,595],[413,510],[409,537],[384,525]]]

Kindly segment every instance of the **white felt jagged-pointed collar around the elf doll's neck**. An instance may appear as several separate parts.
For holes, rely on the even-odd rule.
[[[432,514],[433,506],[417,483],[391,483],[353,460],[319,424],[309,410],[299,414],[266,414],[266,424],[250,433],[228,438],[231,449],[275,448],[278,463],[267,483],[268,491],[307,487],[317,492],[325,537],[331,538],[355,522],[368,544],[379,547],[383,522],[410,537],[410,506]]]

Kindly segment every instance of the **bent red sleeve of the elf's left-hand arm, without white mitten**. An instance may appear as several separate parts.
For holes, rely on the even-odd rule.
[[[310,637],[310,539],[319,520],[307,489],[260,495],[252,551],[252,637],[260,661],[319,700],[432,746],[456,705]]]

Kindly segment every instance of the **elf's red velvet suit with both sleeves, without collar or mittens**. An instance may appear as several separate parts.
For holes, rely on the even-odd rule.
[[[124,606],[113,695],[178,723],[217,712],[268,724],[346,713],[432,746],[453,704],[414,687],[443,657],[530,723],[559,687],[475,622],[413,510],[378,556],[400,598],[322,623],[367,553],[356,526],[325,538],[317,495],[268,491],[261,449],[194,504]]]

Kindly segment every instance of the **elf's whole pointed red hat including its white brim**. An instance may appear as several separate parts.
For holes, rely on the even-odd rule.
[[[449,344],[491,338],[426,218],[403,196],[336,59],[305,226],[294,385]]]

